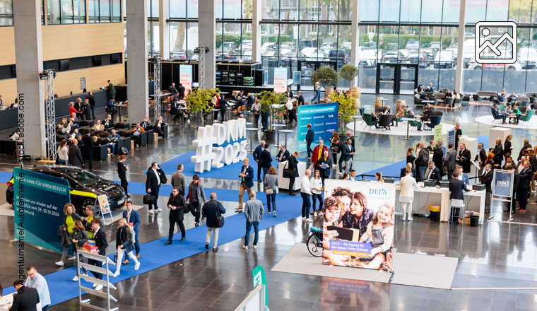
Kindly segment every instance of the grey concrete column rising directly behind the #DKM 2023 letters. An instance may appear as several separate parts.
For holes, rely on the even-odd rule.
[[[201,3],[201,2],[200,2]],[[216,87],[216,0],[203,0],[198,7],[199,47],[208,47],[205,54],[205,87]]]

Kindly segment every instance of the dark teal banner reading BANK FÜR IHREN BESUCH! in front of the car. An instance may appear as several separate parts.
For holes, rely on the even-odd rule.
[[[58,227],[64,223],[64,205],[71,202],[69,182],[13,168],[15,238],[19,241],[61,252]]]

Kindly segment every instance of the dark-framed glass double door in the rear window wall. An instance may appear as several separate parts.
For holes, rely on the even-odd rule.
[[[377,64],[377,94],[413,95],[418,87],[418,64]]]

